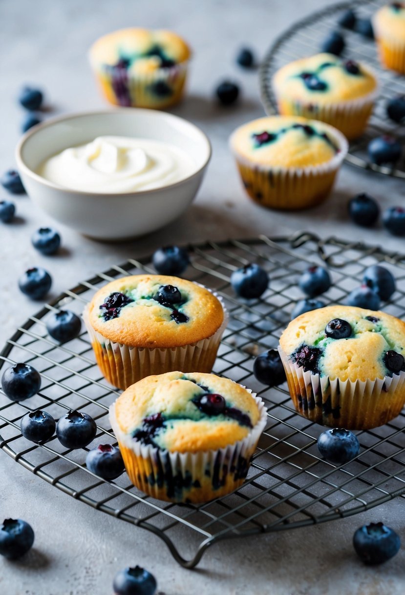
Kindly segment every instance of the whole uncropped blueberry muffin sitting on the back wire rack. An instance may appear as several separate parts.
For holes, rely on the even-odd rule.
[[[349,140],[365,130],[376,88],[374,74],[365,64],[333,54],[290,62],[273,77],[280,114],[322,120]]]

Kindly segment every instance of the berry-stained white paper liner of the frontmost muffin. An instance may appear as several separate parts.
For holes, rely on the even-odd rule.
[[[208,502],[241,486],[267,423],[264,402],[250,389],[246,390],[259,410],[258,422],[248,436],[225,448],[195,453],[169,452],[143,445],[124,434],[113,403],[109,409],[110,424],[134,486],[157,500],[194,503]]]

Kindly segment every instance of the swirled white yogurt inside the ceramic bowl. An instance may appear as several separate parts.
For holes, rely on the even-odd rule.
[[[37,173],[70,190],[109,194],[168,186],[193,171],[192,159],[170,143],[99,136],[46,159]]]

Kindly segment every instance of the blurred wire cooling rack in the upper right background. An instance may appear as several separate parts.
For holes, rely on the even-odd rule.
[[[370,18],[384,4],[387,4],[386,0],[358,0],[357,2],[340,2],[333,5],[328,5],[327,2],[322,10],[313,12],[308,17],[294,23],[292,27],[277,37],[262,62],[260,92],[267,114],[275,114],[277,101],[271,88],[271,79],[276,71],[293,60],[318,54],[321,51],[319,49],[321,43],[328,33],[340,29],[346,42],[343,56],[370,65],[375,71],[379,84],[378,98],[368,127],[359,139],[350,142],[346,161],[366,170],[405,178],[403,160],[396,167],[388,167],[371,163],[367,156],[368,143],[377,136],[388,134],[396,137],[401,145],[405,143],[405,127],[391,121],[386,111],[388,99],[405,94],[405,77],[381,66],[374,40],[355,31],[339,28],[337,24],[340,14],[348,8],[355,9],[359,18]]]

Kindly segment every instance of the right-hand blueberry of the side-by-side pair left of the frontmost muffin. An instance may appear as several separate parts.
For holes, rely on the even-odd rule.
[[[69,449],[84,448],[96,436],[96,422],[87,413],[69,411],[56,424],[56,436]]]

